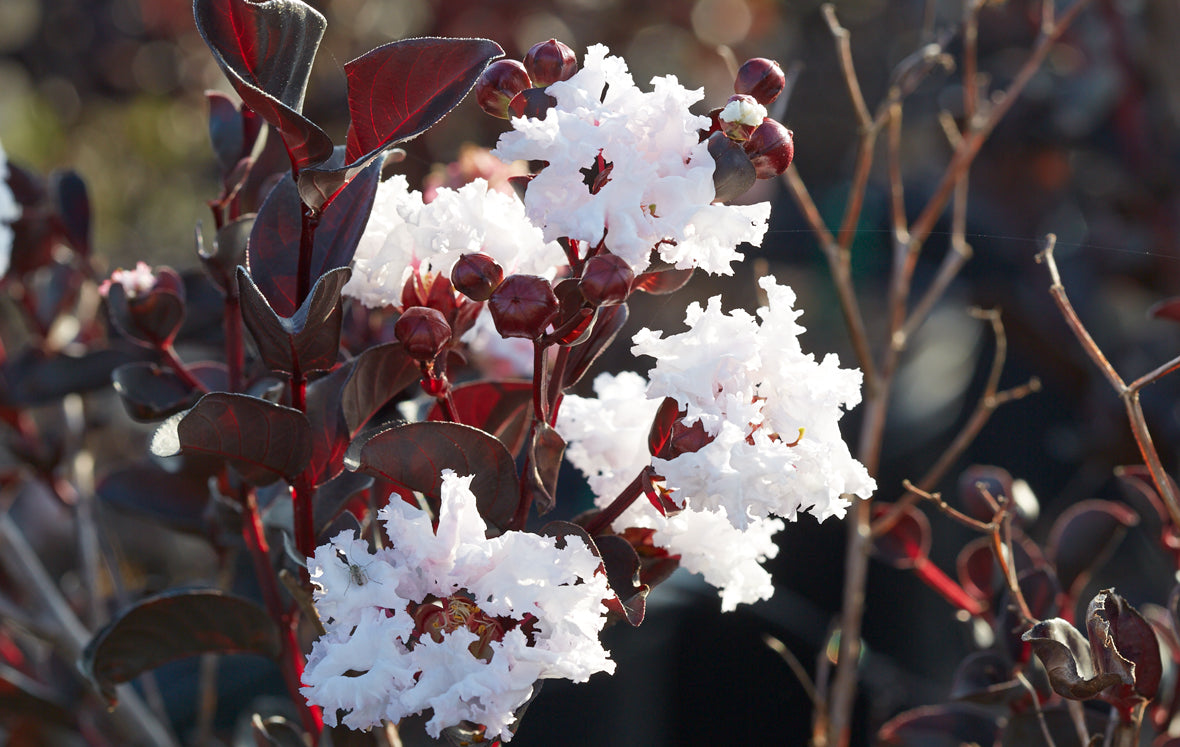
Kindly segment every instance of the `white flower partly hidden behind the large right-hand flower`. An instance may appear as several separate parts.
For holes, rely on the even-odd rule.
[[[565,397],[557,431],[566,440],[570,464],[586,476],[595,503],[605,507],[651,464],[648,431],[662,400],[647,399],[647,381],[631,372],[599,374],[594,389],[596,398]],[[762,563],[779,552],[773,540],[784,528],[779,519],[755,519],[738,529],[725,509],[693,505],[664,517],[641,496],[612,523],[616,531],[629,526],[655,530],[656,546],[678,555],[682,566],[720,590],[725,611],[774,594]]]

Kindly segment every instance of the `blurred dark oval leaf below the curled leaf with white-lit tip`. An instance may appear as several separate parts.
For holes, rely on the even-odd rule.
[[[185,472],[165,472],[151,464],[125,467],[103,478],[96,493],[107,505],[182,532],[204,535],[209,489]]]

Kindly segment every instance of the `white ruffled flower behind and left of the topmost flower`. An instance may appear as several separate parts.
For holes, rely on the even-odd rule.
[[[505,274],[552,277],[566,263],[562,248],[542,238],[514,195],[476,179],[457,190],[439,188],[426,203],[396,175],[378,186],[343,293],[371,308],[400,306],[411,273],[450,276],[460,255],[476,251],[496,260]]]

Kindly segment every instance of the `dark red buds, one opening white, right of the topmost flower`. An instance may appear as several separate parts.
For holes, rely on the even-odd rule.
[[[794,136],[766,114],[767,105],[786,85],[782,67],[774,60],[746,60],[734,79],[734,94],[723,107],[709,112],[713,124],[701,133],[701,139],[709,138],[715,158],[725,144],[720,138],[726,138],[741,145],[758,178],[769,179],[787,170],[795,156]]]

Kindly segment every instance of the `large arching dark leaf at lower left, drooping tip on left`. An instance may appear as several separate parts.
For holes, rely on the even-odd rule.
[[[114,686],[198,654],[277,658],[278,629],[264,609],[216,590],[173,590],[143,599],[100,630],[79,666],[114,703]]]

